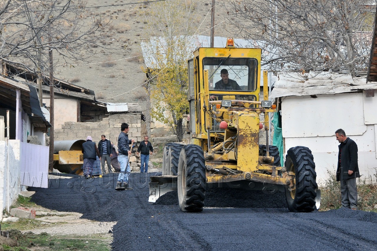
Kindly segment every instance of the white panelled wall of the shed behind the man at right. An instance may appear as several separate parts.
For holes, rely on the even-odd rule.
[[[375,181],[377,125],[366,124],[364,115],[367,111],[369,121],[377,119],[373,109],[365,109],[365,100],[372,101],[371,98],[363,100],[363,93],[282,98],[284,158],[291,147],[309,147],[316,164],[317,182],[323,183],[328,178],[327,170],[333,173],[336,171],[339,142],[335,131],[342,128],[358,146],[358,164],[362,178],[369,181],[371,176]]]

